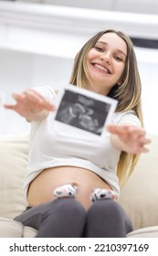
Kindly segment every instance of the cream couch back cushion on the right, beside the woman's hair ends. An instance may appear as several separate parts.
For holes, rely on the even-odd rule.
[[[120,203],[132,219],[134,229],[158,225],[158,136],[150,135],[150,152],[141,159],[126,185]]]

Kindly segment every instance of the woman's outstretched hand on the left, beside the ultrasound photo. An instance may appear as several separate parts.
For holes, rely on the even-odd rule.
[[[55,110],[51,102],[31,88],[21,94],[13,93],[13,98],[16,104],[5,104],[4,107],[16,111],[28,121],[42,120],[47,117],[48,112]]]

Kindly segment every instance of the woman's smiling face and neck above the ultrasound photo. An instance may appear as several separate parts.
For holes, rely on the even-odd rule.
[[[115,33],[103,34],[87,55],[87,68],[92,84],[87,89],[107,95],[121,81],[127,46]]]

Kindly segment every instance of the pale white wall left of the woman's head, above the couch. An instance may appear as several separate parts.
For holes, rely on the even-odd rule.
[[[12,93],[25,91],[28,87],[59,88],[63,83],[68,84],[72,64],[70,59],[0,49],[0,88],[5,102],[13,103]],[[29,124],[16,112],[1,109],[0,117],[0,134],[29,131]]]

